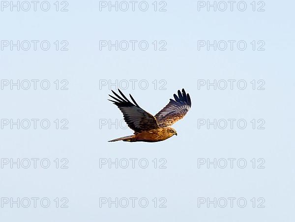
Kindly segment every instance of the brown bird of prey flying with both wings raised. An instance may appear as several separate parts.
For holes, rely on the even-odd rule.
[[[134,130],[134,135],[113,139],[109,142],[118,140],[128,142],[158,142],[168,139],[174,135],[177,136],[176,130],[170,126],[179,119],[182,119],[192,105],[189,94],[186,94],[184,89],[182,89],[182,93],[178,90],[178,96],[174,94],[175,100],[170,99],[170,102],[166,105],[166,107],[153,116],[140,108],[131,94],[129,95],[134,104],[131,103],[119,89],[118,91],[123,98],[112,90],[116,97],[109,95],[112,99],[114,99],[109,100],[118,106],[119,110],[123,113],[124,120],[127,125],[129,128]]]

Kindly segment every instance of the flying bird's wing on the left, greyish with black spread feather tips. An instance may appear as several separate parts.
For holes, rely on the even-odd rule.
[[[156,118],[152,114],[140,108],[131,96],[131,94],[129,95],[134,104],[131,103],[119,89],[118,91],[123,98],[112,90],[116,97],[109,95],[114,99],[109,100],[118,106],[120,111],[123,113],[125,122],[132,130],[135,131],[135,133],[141,133],[148,130],[160,128],[157,124]]]

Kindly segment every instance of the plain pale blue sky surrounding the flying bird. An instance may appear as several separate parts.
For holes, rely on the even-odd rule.
[[[108,7],[100,10],[99,1],[95,0],[72,0],[68,5],[59,1],[58,11],[52,0],[48,1],[48,11],[43,11],[40,4],[34,11],[32,3],[29,11],[22,8],[18,11],[15,7],[11,10],[1,2],[1,221],[293,221],[293,1],[265,1],[262,8],[265,11],[257,11],[263,5],[263,2],[258,5],[258,1],[253,11],[252,1],[248,0],[245,11],[238,10],[236,4],[231,11],[229,3],[225,11],[218,8],[214,11],[212,7],[209,11],[206,7],[198,10],[198,1],[193,0],[166,1],[166,11],[159,11],[165,2],[157,1],[154,11],[154,1],[149,0],[147,11],[140,10],[138,4],[132,11],[129,1],[127,11],[119,8],[110,11]],[[62,6],[68,11],[60,11]],[[17,46],[12,50],[10,45],[4,47],[5,43],[16,44],[18,40],[19,51]],[[39,41],[36,50],[32,45],[28,51],[23,50],[21,43],[32,40]],[[136,43],[134,51],[131,45],[126,51],[120,48],[116,51],[115,47],[100,50],[100,41],[116,40],[144,40],[148,49],[143,51]],[[215,51],[213,46],[198,50],[198,41],[212,44],[229,40],[245,41],[247,47],[241,51],[234,43],[233,50],[230,45],[224,51],[218,47]],[[47,51],[41,49],[42,41],[50,43]],[[160,41],[166,42],[166,51],[159,50]],[[265,43],[264,51],[257,50],[258,41]],[[68,50],[61,51],[66,43],[63,49]],[[19,90],[17,86],[11,89],[10,80],[13,83],[19,80],[20,84],[28,80],[31,85],[28,90],[21,85]],[[31,80],[38,81],[35,90]],[[50,83],[48,90],[40,86],[44,80]],[[207,85],[198,84],[200,80],[210,83],[224,80],[228,86],[224,90],[218,87],[215,90],[213,86],[207,89]],[[235,81],[233,89],[228,80]],[[236,84],[241,80],[247,83],[243,90]],[[134,87],[131,81],[135,82]],[[125,85],[126,82],[129,84]],[[258,90],[262,83],[264,90]],[[67,90],[60,90],[64,84]],[[120,127],[125,126],[119,124],[122,114],[107,100],[111,89],[118,87],[126,95],[131,93],[152,114],[166,106],[178,89],[184,88],[190,94],[192,108],[173,125],[178,136],[157,143],[108,143],[110,139],[133,134],[129,128]],[[8,125],[4,124],[6,119]],[[29,119],[31,126],[17,129],[16,125],[10,125],[11,119],[13,122]],[[39,121],[34,129],[31,119],[48,119],[50,127],[42,129]],[[206,124],[198,126],[202,119]],[[244,119],[247,126],[239,129],[235,122],[231,129],[227,121],[225,129],[218,126],[214,129],[212,125],[208,129],[207,120],[214,119],[216,122]],[[259,119],[265,129],[257,129],[262,123]],[[68,129],[60,129],[65,123]],[[18,158],[19,168],[17,164],[11,166]],[[24,167],[26,158],[30,160],[28,168]],[[32,158],[39,158],[36,168]],[[104,160],[115,162],[116,158],[121,163],[118,168],[114,164],[100,165]],[[124,158],[129,163],[126,168],[122,167]],[[134,168],[132,158],[137,158]],[[214,158],[216,168],[212,164],[198,165],[204,159],[212,162]],[[225,168],[218,162],[222,158],[227,160]],[[236,159],[232,168],[229,158]],[[42,167],[41,159],[48,159],[50,166],[43,168],[46,164]],[[147,161],[148,167],[142,168],[140,159]],[[238,159],[244,159],[246,167],[238,166]],[[160,167],[163,163],[166,168]],[[258,167],[260,163],[264,168]],[[23,207],[26,198],[33,197],[39,198],[36,207],[33,202]],[[134,208],[129,199],[132,197],[138,198]],[[231,197],[236,198],[233,207],[228,199]],[[20,207],[17,203],[11,207],[11,198],[13,201],[20,198]],[[48,207],[41,205],[42,198],[50,200]],[[101,198],[112,201],[118,198],[118,208],[115,203],[111,207],[108,203],[100,206]],[[129,199],[125,208],[121,207],[124,198]],[[139,205],[140,198],[148,199],[147,207]],[[207,202],[198,206],[200,198],[206,201],[216,198],[216,207],[213,203],[207,207]],[[228,200],[227,206],[220,207],[223,205],[222,199],[217,201],[220,198]],[[238,206],[238,198],[246,199],[245,207]],[[166,207],[159,207],[163,202]],[[260,203],[265,207],[258,207]]]

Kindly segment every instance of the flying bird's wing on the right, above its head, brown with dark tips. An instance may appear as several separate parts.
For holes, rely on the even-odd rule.
[[[170,99],[167,106],[155,115],[157,123],[160,127],[173,125],[179,119],[182,119],[191,108],[192,103],[189,94],[186,94],[184,89],[182,89],[182,94],[180,90],[178,90],[177,93],[178,96],[174,94],[175,100]]]

